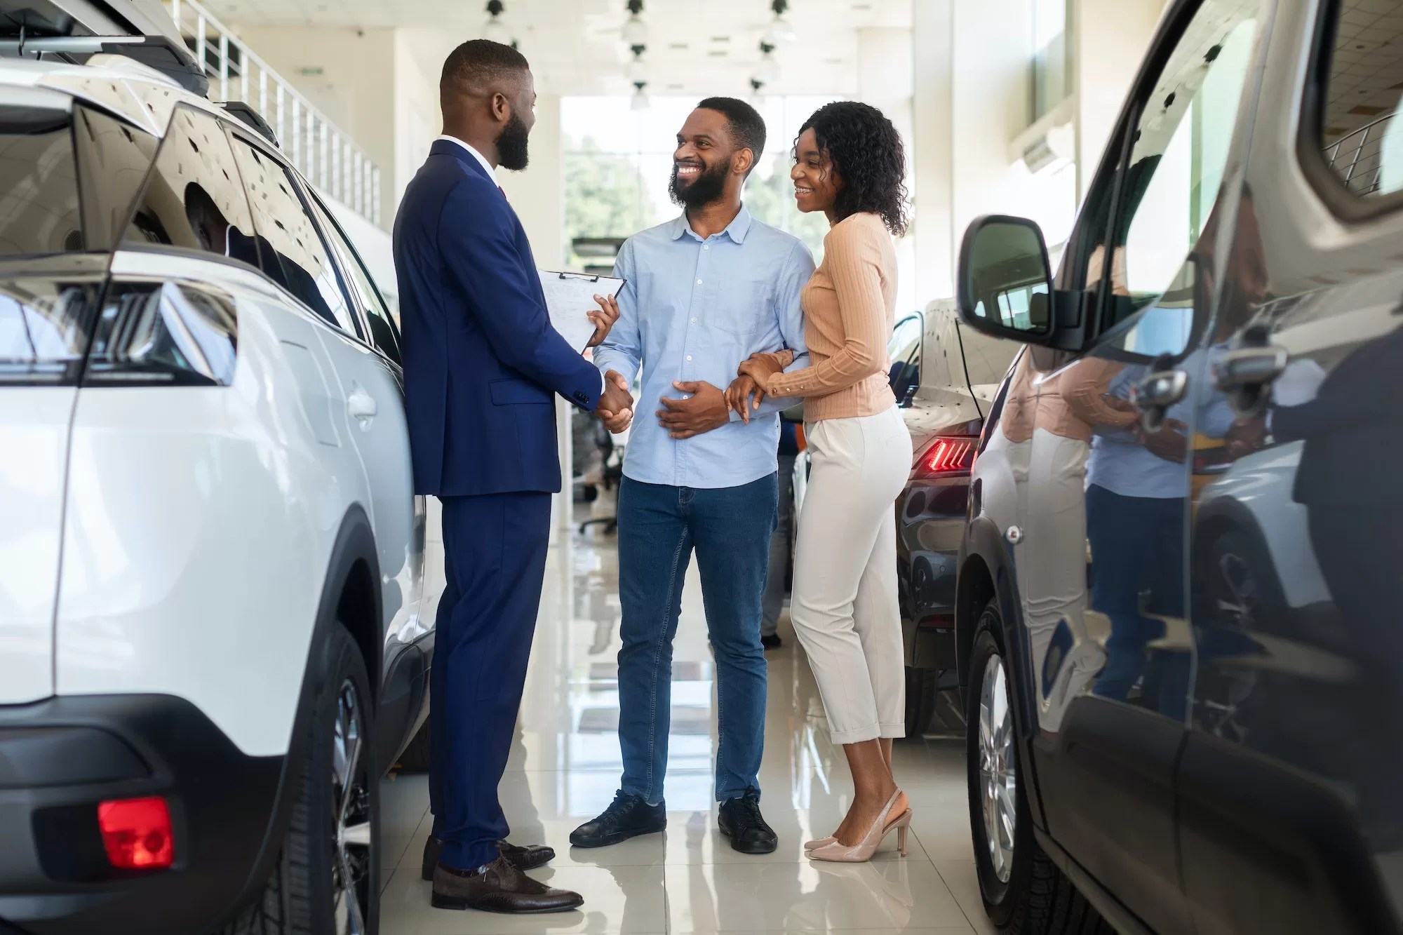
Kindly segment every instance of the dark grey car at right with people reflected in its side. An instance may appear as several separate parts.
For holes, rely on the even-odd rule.
[[[1028,345],[955,597],[1003,931],[1403,931],[1400,88],[1396,3],[1179,0],[1056,275],[965,236]]]

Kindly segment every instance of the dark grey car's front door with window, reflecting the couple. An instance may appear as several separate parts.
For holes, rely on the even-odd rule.
[[[1174,824],[1194,664],[1186,455],[1195,427],[1226,425],[1222,409],[1143,390],[1152,373],[1201,369],[1209,352],[1195,350],[1212,313],[1200,271],[1236,202],[1221,183],[1257,49],[1251,0],[1177,15],[1113,138],[1120,163],[1103,166],[1063,258],[1101,337],[1072,361],[1031,348],[1003,417],[1026,458],[1014,469],[1027,477],[1017,581],[1048,830],[1157,932],[1193,929]]]

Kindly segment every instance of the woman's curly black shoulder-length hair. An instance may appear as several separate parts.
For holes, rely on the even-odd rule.
[[[887,115],[870,104],[835,101],[814,111],[798,136],[807,129],[814,131],[818,149],[828,153],[843,180],[833,201],[838,219],[870,211],[881,215],[887,230],[906,233],[906,147]]]

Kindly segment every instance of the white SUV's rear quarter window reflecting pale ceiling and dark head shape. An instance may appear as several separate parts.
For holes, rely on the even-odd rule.
[[[253,215],[217,119],[175,110],[123,243],[198,250],[258,265]]]

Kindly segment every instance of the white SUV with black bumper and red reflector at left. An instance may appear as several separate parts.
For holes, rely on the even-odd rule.
[[[434,651],[397,361],[248,124],[0,62],[0,931],[376,929]]]

